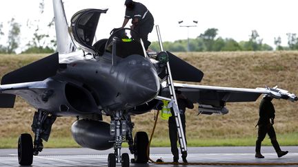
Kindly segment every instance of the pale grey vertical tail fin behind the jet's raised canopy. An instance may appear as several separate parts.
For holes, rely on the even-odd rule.
[[[62,0],[52,0],[54,8],[54,24],[57,38],[57,51],[59,54],[74,52],[75,47],[70,34],[68,33],[68,23],[64,11]]]

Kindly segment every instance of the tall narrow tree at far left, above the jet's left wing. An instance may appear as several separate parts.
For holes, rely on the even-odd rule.
[[[6,52],[8,54],[14,54],[15,49],[19,47],[19,36],[21,34],[21,25],[14,21],[14,18],[8,22],[10,25],[10,31],[8,32],[8,46]]]

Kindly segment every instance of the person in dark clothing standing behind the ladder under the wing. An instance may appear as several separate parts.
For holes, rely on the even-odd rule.
[[[188,100],[188,98],[186,98],[186,96],[184,96],[181,93],[181,91],[176,91],[176,97],[177,97],[177,103],[178,103],[182,128],[183,128],[184,136],[186,137],[185,111],[186,111],[186,108],[193,109],[194,105],[192,104],[192,102],[190,100]],[[179,152],[178,152],[178,148],[177,148],[178,132],[177,132],[175,115],[174,115],[174,111],[172,110],[172,108],[171,108],[171,113],[172,113],[172,116],[168,120],[171,151],[172,151],[173,160],[174,160],[173,162],[178,162],[178,159],[179,159]],[[186,142],[186,144],[187,144],[187,142]],[[182,157],[183,162],[188,163],[186,160],[187,152],[181,151],[181,154],[182,154],[181,157]]]

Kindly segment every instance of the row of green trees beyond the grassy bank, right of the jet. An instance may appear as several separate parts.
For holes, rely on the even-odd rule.
[[[270,51],[273,48],[263,43],[257,30],[252,30],[248,41],[237,42],[233,38],[221,38],[218,35],[217,28],[208,28],[203,34],[197,38],[190,38],[188,40],[177,40],[174,42],[164,42],[163,49],[171,52],[220,52],[220,51]],[[281,37],[275,38],[275,45],[277,50],[297,50],[298,38],[297,34],[288,33],[288,46],[281,46]],[[189,48],[188,48],[189,47]],[[159,43],[152,42],[150,49],[159,51]]]

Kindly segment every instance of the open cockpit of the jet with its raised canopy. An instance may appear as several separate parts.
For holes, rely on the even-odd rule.
[[[93,56],[102,56],[104,53],[110,53],[121,58],[126,58],[132,54],[145,56],[146,50],[143,42],[138,35],[132,38],[131,33],[136,33],[129,28],[114,29],[110,32],[109,38],[103,38],[93,44],[97,24],[101,13],[107,10],[86,9],[74,14],[69,27],[72,41],[81,47],[84,52]]]

